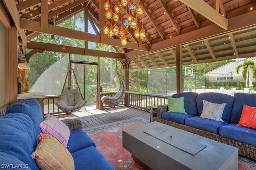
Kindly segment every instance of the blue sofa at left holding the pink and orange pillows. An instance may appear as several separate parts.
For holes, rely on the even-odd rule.
[[[6,114],[0,117],[1,168],[39,169],[31,154],[38,145],[38,134],[42,133],[38,124],[43,120],[41,107],[36,99],[25,99],[6,109]],[[64,123],[72,127],[70,126],[72,122],[74,120],[71,119]],[[70,131],[68,151],[74,159],[75,169],[114,169],[86,133],[80,128]]]

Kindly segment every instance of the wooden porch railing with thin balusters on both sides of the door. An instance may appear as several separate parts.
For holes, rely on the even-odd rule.
[[[117,92],[101,92],[100,99],[103,96],[113,97]],[[130,106],[138,109],[142,109],[145,111],[150,111],[150,106],[158,106],[167,104],[167,96],[166,95],[156,95],[150,93],[139,93],[134,91],[126,91],[126,95],[124,100],[116,105],[116,106],[108,106],[104,105],[100,100],[101,108],[99,109],[107,109],[111,107],[121,107],[121,106]],[[65,115],[66,113],[62,110],[58,109],[55,103],[58,101],[59,95],[51,95],[44,97],[44,117],[47,114],[51,115]]]

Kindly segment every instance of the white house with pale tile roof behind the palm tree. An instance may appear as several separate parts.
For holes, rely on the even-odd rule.
[[[231,62],[227,63],[225,65],[222,65],[221,67],[218,67],[212,71],[209,71],[205,74],[205,76],[208,78],[209,82],[212,81],[244,81],[242,76],[242,70],[241,67],[239,69],[239,73],[236,73],[236,67],[238,65],[241,65],[244,61],[254,61],[254,65],[256,66],[256,57],[249,57],[246,59],[243,59],[241,61]],[[250,79],[250,86],[252,86],[252,82],[256,82],[256,79],[252,78],[252,73],[249,70],[249,79]],[[246,81],[247,82],[247,81]]]

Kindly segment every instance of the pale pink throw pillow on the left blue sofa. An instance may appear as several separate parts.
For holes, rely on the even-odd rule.
[[[57,138],[66,148],[70,130],[60,119],[48,114],[47,118],[39,124],[42,132]]]

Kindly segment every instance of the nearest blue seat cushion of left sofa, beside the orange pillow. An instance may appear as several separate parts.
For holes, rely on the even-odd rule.
[[[94,147],[72,153],[76,170],[114,170],[113,166]]]

